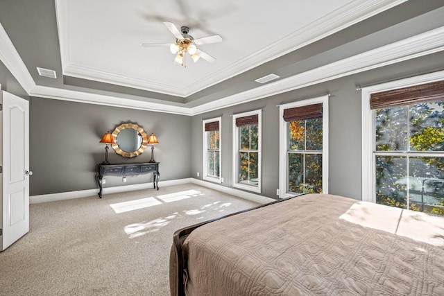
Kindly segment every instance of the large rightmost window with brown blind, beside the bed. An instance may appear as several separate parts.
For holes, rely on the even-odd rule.
[[[444,81],[364,95],[372,139],[363,134],[371,170],[363,200],[444,215]]]

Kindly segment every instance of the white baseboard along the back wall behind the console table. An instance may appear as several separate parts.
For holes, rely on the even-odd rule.
[[[191,178],[160,181],[159,187],[162,188],[162,187],[166,187],[166,186],[173,186],[173,185],[180,185],[180,184],[187,184],[187,183],[191,183]],[[154,186],[153,182],[151,182],[151,183],[133,184],[133,185],[126,185],[126,186],[114,186],[114,187],[108,187],[108,188],[105,187],[105,188],[103,188],[103,195],[111,194],[111,193],[121,193],[121,192],[127,192],[127,191],[143,190],[143,189],[152,189],[153,186]],[[99,193],[99,189],[87,189],[87,190],[80,190],[80,191],[60,192],[60,193],[43,194],[43,195],[32,195],[29,197],[29,203],[30,204],[40,204],[42,202],[56,202],[58,200],[71,200],[73,198],[88,198],[91,196],[97,196],[97,193]]]

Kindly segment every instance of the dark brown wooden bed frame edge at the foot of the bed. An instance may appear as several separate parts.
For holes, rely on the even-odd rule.
[[[207,223],[212,223],[216,220],[221,220],[223,218],[227,218],[227,217],[234,216],[237,214],[245,213],[246,211],[251,211],[253,209],[259,209],[261,207],[266,207],[270,204],[283,202],[283,201],[289,200],[291,198],[297,198],[298,196],[305,195],[305,194],[307,194],[307,193],[302,193],[300,195],[291,196],[289,198],[283,198],[281,200],[276,200],[275,202],[268,202],[268,204],[261,204],[257,207],[245,209],[243,211],[237,211],[236,213],[232,213],[232,214],[222,216],[219,218],[214,218],[212,220],[207,220],[203,223],[198,223],[195,225],[184,227],[184,228],[179,229],[178,231],[174,232],[174,234],[173,234],[173,249],[175,250],[175,253],[176,253],[176,296],[185,296],[184,270],[187,268],[187,261],[184,259],[184,256],[183,256],[182,244],[185,241],[185,238],[187,238],[187,236],[189,236],[189,234],[191,234],[191,232],[193,232],[194,229],[196,229],[202,225],[205,225]]]

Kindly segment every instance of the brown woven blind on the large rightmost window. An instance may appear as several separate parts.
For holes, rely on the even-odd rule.
[[[444,101],[444,80],[370,95],[370,109]]]

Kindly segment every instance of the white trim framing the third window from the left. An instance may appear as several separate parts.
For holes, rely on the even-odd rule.
[[[301,107],[306,105],[314,105],[322,103],[322,192],[328,193],[328,95],[319,96],[316,98],[309,98],[307,100],[287,103],[279,106],[279,197],[288,198],[293,196],[293,193],[287,193],[287,121],[284,121],[284,110]]]

